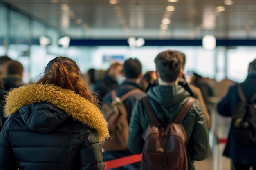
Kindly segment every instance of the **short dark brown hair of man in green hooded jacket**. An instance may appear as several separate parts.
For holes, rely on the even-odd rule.
[[[175,82],[178,78],[182,62],[182,55],[179,51],[166,50],[155,58],[155,66],[160,78],[168,83]]]

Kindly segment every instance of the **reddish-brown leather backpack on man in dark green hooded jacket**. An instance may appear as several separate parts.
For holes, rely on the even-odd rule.
[[[187,136],[182,121],[195,100],[193,97],[188,97],[175,120],[164,125],[157,120],[148,97],[141,99],[150,119],[150,124],[142,135],[145,142],[142,151],[141,170],[188,169],[185,146]]]

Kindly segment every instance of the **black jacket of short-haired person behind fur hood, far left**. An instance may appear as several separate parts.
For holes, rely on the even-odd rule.
[[[8,75],[7,77],[3,78],[4,88],[5,90],[9,91],[12,88],[18,88],[20,86],[26,85],[22,82],[22,78],[18,75]]]

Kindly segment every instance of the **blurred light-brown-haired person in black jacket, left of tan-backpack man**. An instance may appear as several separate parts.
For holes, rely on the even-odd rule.
[[[122,71],[123,65],[114,63],[106,71],[105,77],[94,85],[93,91],[98,93],[100,102],[108,92],[118,87],[117,77]]]

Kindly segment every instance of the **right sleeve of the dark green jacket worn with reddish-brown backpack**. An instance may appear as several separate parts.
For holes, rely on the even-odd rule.
[[[194,161],[202,161],[210,154],[209,135],[202,108],[198,100],[192,106],[192,114],[197,115],[191,134],[190,156]]]

